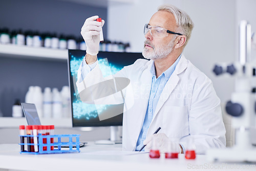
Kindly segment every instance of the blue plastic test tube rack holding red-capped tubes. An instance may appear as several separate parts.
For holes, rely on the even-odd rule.
[[[54,154],[54,153],[73,153],[73,152],[80,152],[79,148],[79,136],[80,135],[19,135],[20,137],[26,138],[34,138],[37,137],[38,143],[19,143],[19,145],[25,145],[25,146],[38,146],[38,152],[20,152],[20,154]],[[51,143],[51,138],[58,139],[58,142]],[[67,138],[69,139],[68,142],[63,142],[63,139],[67,141]],[[75,142],[73,142],[73,138],[76,139]],[[46,139],[46,143],[43,143],[43,139]],[[54,146],[54,149],[51,149],[51,147]],[[56,148],[57,146],[57,148]],[[61,148],[61,146],[69,146],[69,148]],[[73,147],[75,146],[75,147]],[[44,149],[45,148],[45,149]]]

